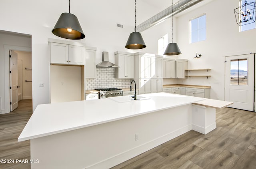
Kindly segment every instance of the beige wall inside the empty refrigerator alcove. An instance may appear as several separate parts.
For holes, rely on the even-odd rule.
[[[51,65],[51,103],[81,100],[81,67]]]

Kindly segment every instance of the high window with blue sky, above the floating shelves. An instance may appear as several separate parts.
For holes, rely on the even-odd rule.
[[[190,20],[190,43],[206,40],[206,14]]]

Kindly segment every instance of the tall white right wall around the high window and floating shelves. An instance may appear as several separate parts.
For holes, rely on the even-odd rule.
[[[256,29],[239,32],[234,9],[238,0],[214,0],[177,18],[178,45],[188,68],[211,68],[210,77],[178,80],[179,84],[210,85],[211,99],[224,100],[224,56],[255,53]],[[189,20],[206,13],[206,40],[189,44]],[[196,52],[201,59],[192,59]]]

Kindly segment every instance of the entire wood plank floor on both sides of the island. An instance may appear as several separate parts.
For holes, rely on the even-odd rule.
[[[0,115],[0,159],[30,159],[30,141],[17,139],[31,115],[32,100]],[[112,169],[256,169],[256,113],[217,109],[216,122],[206,135],[189,131]],[[0,163],[0,169],[20,168],[30,164]]]

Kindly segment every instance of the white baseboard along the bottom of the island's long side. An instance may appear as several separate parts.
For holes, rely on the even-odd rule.
[[[86,167],[86,169],[108,169],[110,167],[114,167],[115,165],[118,165],[128,159],[136,157],[137,155],[140,155],[141,153],[144,153],[154,147],[157,147],[158,145],[161,145],[162,143],[165,143],[166,141],[174,139],[192,129],[193,129],[192,124],[187,125],[185,127],[177,129],[176,131],[172,131],[171,133],[168,133],[168,134],[158,137],[152,141],[144,143],[138,147],[134,147],[128,151],[125,151],[123,153],[120,153],[118,155],[110,157],[104,161],[100,161],[99,163],[90,165],[90,166]]]

